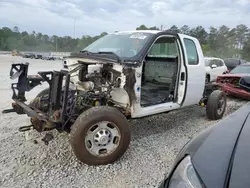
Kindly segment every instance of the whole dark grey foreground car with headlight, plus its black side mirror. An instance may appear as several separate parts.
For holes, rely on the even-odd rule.
[[[244,84],[250,90],[250,77]],[[160,188],[250,187],[250,103],[189,141]]]

